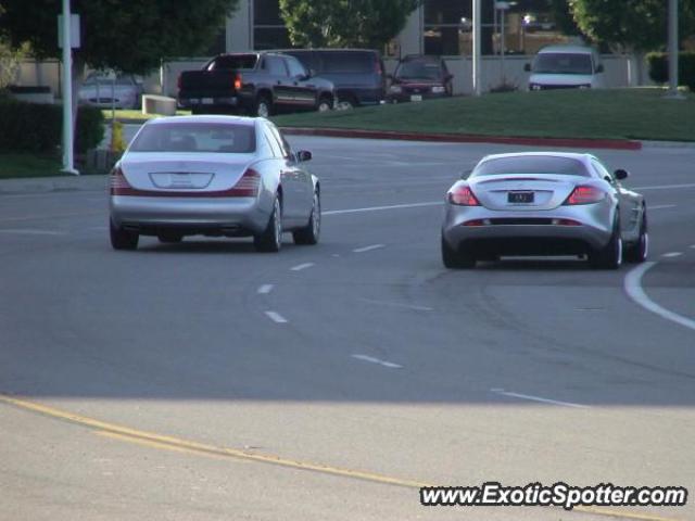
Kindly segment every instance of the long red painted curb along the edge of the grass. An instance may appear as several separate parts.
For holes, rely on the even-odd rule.
[[[641,150],[641,141],[628,139],[589,138],[523,138],[501,136],[473,136],[456,134],[417,134],[390,130],[345,130],[342,128],[282,127],[282,131],[294,136],[325,136],[331,138],[400,139],[406,141],[440,141],[450,143],[498,143],[532,147],[568,147],[574,149]]]

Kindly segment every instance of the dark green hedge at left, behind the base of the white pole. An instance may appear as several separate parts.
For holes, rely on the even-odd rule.
[[[0,97],[0,151],[55,153],[61,147],[63,107]],[[80,106],[75,129],[75,152],[97,148],[104,137],[101,110]]]

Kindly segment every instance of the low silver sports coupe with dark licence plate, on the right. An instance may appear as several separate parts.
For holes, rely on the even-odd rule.
[[[586,256],[616,269],[648,250],[644,196],[594,155],[525,152],[483,157],[446,193],[442,260],[472,268],[504,255]]]

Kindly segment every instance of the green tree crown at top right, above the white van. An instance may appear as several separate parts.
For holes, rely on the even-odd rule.
[[[579,28],[597,43],[644,54],[667,42],[665,0],[569,0]],[[679,0],[681,39],[695,29],[695,0]]]

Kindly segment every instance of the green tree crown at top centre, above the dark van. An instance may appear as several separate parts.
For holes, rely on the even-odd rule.
[[[301,47],[380,49],[421,0],[280,0],[290,40]]]

